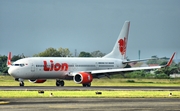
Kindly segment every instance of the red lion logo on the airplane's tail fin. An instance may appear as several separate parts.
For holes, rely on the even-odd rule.
[[[125,52],[126,52],[126,42],[127,42],[126,37],[124,37],[124,40],[120,39],[118,41],[118,43],[119,43],[119,51],[121,52],[121,55],[124,55]]]

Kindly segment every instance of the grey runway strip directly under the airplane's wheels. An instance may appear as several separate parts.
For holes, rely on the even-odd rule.
[[[180,87],[140,87],[140,86],[92,86],[92,87],[82,87],[82,86],[65,86],[65,87],[56,87],[56,86],[0,86],[0,90],[4,91],[20,91],[20,90],[155,90],[155,91],[179,91]]]

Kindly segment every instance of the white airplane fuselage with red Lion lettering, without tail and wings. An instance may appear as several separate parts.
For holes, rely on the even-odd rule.
[[[68,79],[77,72],[123,68],[121,59],[30,57],[12,64],[9,74],[21,79]]]

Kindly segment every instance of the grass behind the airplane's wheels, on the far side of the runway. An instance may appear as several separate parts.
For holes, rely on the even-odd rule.
[[[55,86],[55,80],[47,80],[45,83],[31,83],[24,81],[25,86]],[[94,79],[92,86],[180,86],[180,79]],[[12,76],[0,76],[0,86],[19,86]],[[74,81],[65,80],[65,86],[82,86]]]

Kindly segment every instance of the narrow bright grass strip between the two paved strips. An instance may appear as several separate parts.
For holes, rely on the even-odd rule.
[[[96,95],[95,91],[0,91],[0,98],[180,98],[180,91],[101,91]],[[53,96],[50,96],[50,94]],[[170,96],[169,94],[172,93]]]

